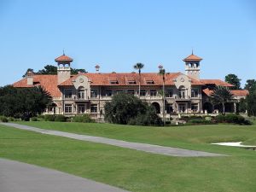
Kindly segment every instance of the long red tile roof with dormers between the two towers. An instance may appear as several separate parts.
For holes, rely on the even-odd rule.
[[[174,85],[173,80],[177,78],[178,75],[182,73],[166,73],[166,85]],[[73,79],[76,79],[80,74],[75,75],[71,79],[67,79],[59,86],[71,86],[73,85]],[[138,73],[83,73],[88,79],[90,79],[90,85],[128,85],[128,79],[133,79],[139,82]],[[158,73],[141,73],[141,85],[148,85],[146,81],[153,80],[154,84],[151,85],[161,85],[162,77]],[[110,84],[110,81],[118,81],[118,84]],[[191,79],[191,84],[193,85],[203,85],[200,81],[196,79]],[[131,85],[131,84],[129,84]],[[137,84],[133,84],[137,85]]]

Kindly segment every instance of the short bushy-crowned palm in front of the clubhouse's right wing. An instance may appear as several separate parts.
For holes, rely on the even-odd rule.
[[[210,95],[210,100],[213,105],[221,104],[223,107],[223,113],[225,113],[225,103],[233,102],[233,97],[234,95],[227,87],[217,86]]]

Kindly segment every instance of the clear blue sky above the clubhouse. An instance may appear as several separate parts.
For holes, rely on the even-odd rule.
[[[183,58],[201,61],[201,79],[235,73],[256,79],[253,0],[0,0],[0,86],[73,58],[94,73],[184,73]]]

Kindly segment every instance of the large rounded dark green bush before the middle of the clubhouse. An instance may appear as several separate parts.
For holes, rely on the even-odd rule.
[[[105,120],[115,124],[160,125],[161,119],[154,107],[136,96],[119,93],[105,105]],[[137,121],[137,122],[136,122]]]

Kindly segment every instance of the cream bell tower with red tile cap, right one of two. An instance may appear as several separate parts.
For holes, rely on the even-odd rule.
[[[200,79],[200,61],[202,58],[192,54],[183,59],[185,62],[185,72],[193,79]]]

